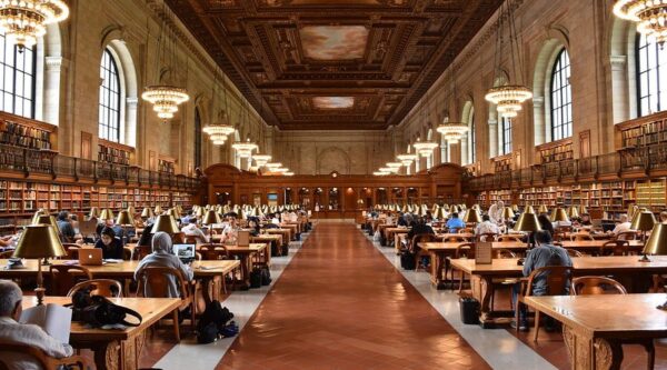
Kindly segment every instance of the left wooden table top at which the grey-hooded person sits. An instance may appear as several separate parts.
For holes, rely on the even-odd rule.
[[[261,244],[265,246],[266,244]],[[38,260],[23,260],[24,269],[11,269],[6,270],[8,260],[0,259],[0,278],[3,277],[21,277],[21,276],[34,276],[37,273]],[[71,263],[70,260],[53,260],[53,264]],[[195,261],[192,262],[192,271],[195,278],[210,278],[215,276],[226,274],[239,266],[239,261],[236,260],[211,260],[211,261]],[[117,277],[117,278],[132,278],[135,271],[139,266],[139,261],[122,261],[119,263],[107,263],[102,266],[86,266],[92,273],[92,277]],[[42,273],[49,273],[49,267],[42,266]]]

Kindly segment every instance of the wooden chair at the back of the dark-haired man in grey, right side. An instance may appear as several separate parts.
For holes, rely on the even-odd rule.
[[[516,320],[519,322],[520,306],[524,303],[524,297],[532,296],[532,281],[537,277],[544,277],[547,282],[547,292],[544,296],[565,296],[569,289],[573,268],[567,266],[546,266],[532,270],[527,280],[521,280],[521,290],[517,300]],[[539,333],[540,312],[535,311],[535,336],[532,341],[537,342]],[[517,324],[517,331],[519,326]]]

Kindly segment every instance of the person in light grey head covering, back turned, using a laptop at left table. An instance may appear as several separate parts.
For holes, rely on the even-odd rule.
[[[183,279],[191,281],[195,277],[192,269],[173,254],[173,244],[171,237],[167,232],[158,231],[151,240],[152,253],[146,256],[137,266],[135,271],[135,280],[138,280],[147,267],[168,267],[181,271]],[[179,289],[176,277],[168,276],[168,297],[165,298],[179,298]],[[150,291],[150,284],[145,283],[143,297],[152,297]]]

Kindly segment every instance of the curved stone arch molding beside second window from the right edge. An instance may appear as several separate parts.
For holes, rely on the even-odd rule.
[[[532,76],[534,146],[552,141],[551,74],[563,50],[567,50],[571,58],[567,30],[560,27],[550,28],[537,54]]]

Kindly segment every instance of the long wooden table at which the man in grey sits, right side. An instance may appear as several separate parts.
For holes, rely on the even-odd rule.
[[[480,322],[484,328],[509,321],[491,312],[489,303],[494,294],[492,279],[520,278],[524,267],[517,259],[494,259],[490,264],[475,263],[475,260],[452,259],[451,267],[469,274],[472,297],[480,302]],[[573,258],[575,276],[614,274],[630,292],[645,292],[653,274],[667,273],[667,256],[654,256],[650,262],[639,262],[637,256],[607,256]]]

